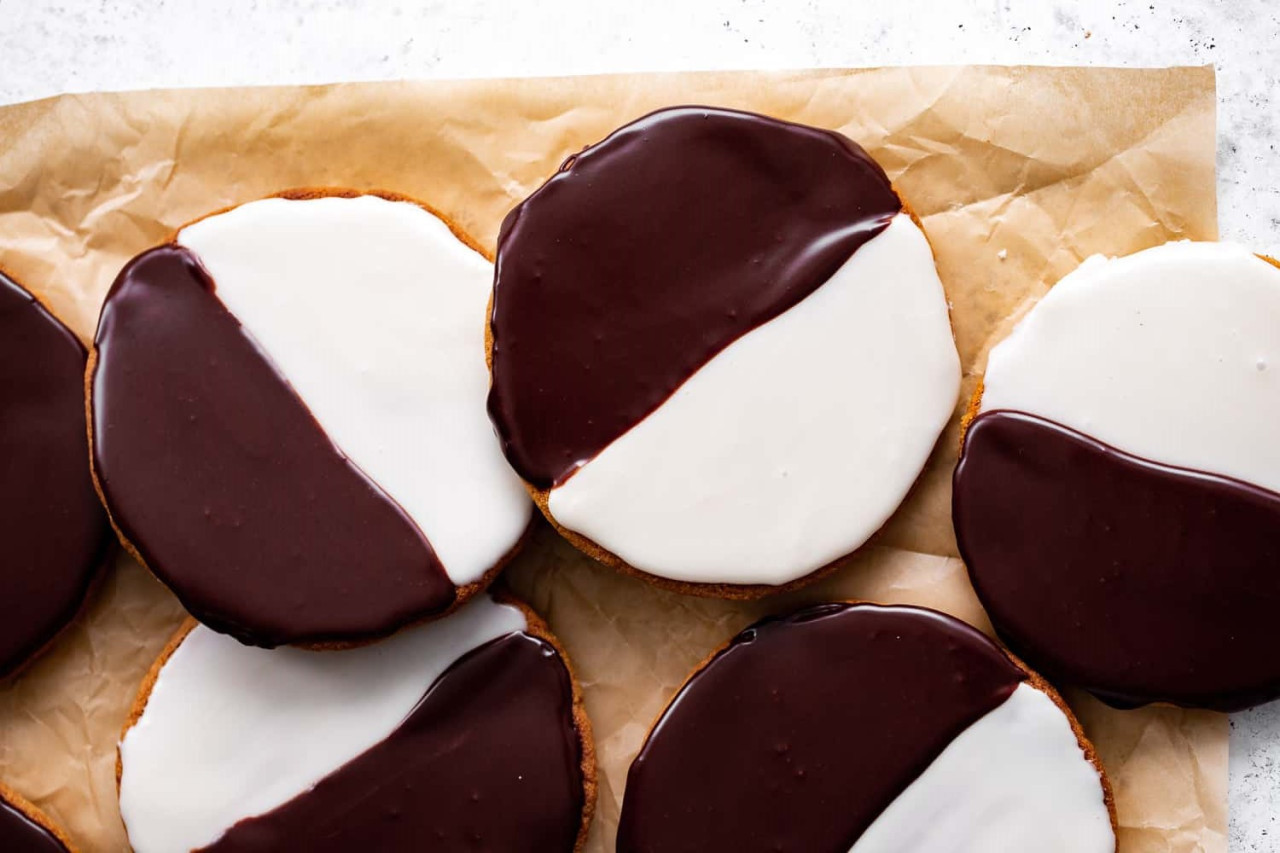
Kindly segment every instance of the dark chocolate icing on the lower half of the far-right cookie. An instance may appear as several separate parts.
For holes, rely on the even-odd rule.
[[[1047,678],[1120,707],[1280,697],[1280,496],[991,411],[952,512],[996,630]]]

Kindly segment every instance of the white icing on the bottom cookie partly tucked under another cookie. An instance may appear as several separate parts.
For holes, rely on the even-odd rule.
[[[120,743],[129,843],[138,853],[212,844],[384,740],[466,652],[525,628],[518,608],[488,594],[338,652],[253,648],[196,628]]]

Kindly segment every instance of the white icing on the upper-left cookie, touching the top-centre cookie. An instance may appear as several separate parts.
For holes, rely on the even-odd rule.
[[[454,584],[516,544],[531,503],[485,409],[489,261],[417,205],[376,196],[255,201],[178,242]]]

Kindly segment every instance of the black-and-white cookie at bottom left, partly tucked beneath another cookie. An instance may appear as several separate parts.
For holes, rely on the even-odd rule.
[[[260,649],[189,624],[156,661],[119,751],[138,853],[570,853],[595,803],[568,662],[524,605],[333,652]]]

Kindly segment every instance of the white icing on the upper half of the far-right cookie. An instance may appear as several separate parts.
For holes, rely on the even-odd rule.
[[[1091,257],[991,351],[983,384],[983,411],[1280,492],[1280,269],[1230,243]]]

